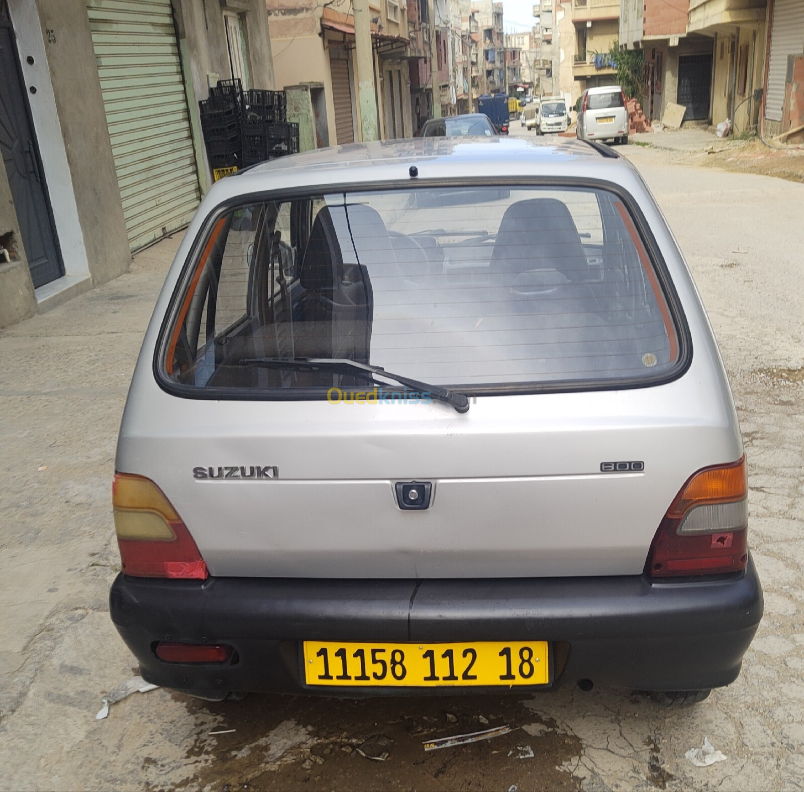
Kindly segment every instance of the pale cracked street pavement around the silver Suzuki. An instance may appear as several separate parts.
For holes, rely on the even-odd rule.
[[[171,240],[117,281],[0,332],[0,789],[804,786],[804,185],[671,164],[637,146],[626,154],[687,256],[745,434],[766,610],[736,683],[678,712],[574,687],[528,700],[228,704],[156,690],[96,722],[101,694],[136,671],[107,612],[117,565],[109,482]],[[485,720],[518,728],[466,749],[421,749],[425,737]],[[209,734],[222,729],[236,731]],[[392,741],[387,761],[356,750],[369,743],[371,753],[376,735]],[[704,737],[728,761],[690,765],[683,754]],[[518,746],[533,757],[518,758],[529,753]]]

